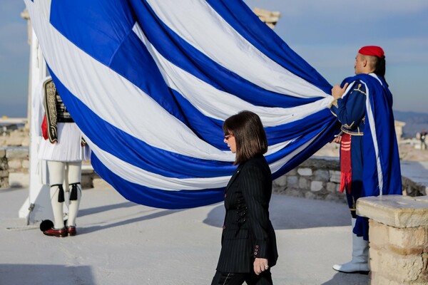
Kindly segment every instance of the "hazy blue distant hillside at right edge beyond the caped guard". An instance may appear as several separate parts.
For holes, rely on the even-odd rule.
[[[403,128],[404,138],[414,138],[416,133],[420,133],[422,130],[428,130],[428,113],[394,110],[394,119],[406,123]]]

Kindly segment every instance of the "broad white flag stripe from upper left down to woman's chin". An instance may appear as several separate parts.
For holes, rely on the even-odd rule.
[[[46,10],[44,1],[36,1],[35,4],[44,5],[43,10]],[[153,147],[205,160],[233,161],[228,153],[200,140],[192,130],[126,78],[68,41],[49,24],[47,15],[46,18],[34,19],[38,21],[34,24],[44,31],[39,33],[39,41],[44,47],[46,61],[61,83],[94,113]],[[109,94],[108,100],[93,96],[100,93]],[[142,115],[151,118],[150,122]],[[175,143],[171,144],[172,141]]]

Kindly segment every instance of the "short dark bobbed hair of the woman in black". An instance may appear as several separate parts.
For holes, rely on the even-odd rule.
[[[233,135],[236,142],[234,165],[267,152],[267,138],[260,117],[251,111],[243,110],[223,123],[225,135]]]

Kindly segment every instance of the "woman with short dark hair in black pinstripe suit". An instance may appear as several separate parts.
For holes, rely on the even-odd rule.
[[[242,111],[225,120],[223,131],[238,168],[225,190],[222,248],[212,285],[272,284],[270,267],[278,256],[269,219],[272,177],[263,156],[265,130],[257,114]]]

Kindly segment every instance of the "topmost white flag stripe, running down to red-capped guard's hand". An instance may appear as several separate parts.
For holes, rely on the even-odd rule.
[[[248,81],[266,90],[297,98],[327,96],[316,86],[261,53],[205,1],[148,0],[148,3],[163,23],[178,36]],[[189,9],[192,11],[191,16]],[[202,23],[204,28],[200,28]]]

